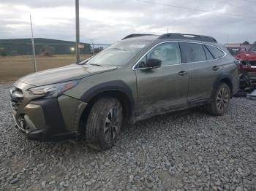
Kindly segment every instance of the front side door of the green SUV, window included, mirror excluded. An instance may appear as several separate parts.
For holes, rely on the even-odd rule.
[[[143,69],[150,58],[161,60],[162,66]],[[135,74],[140,115],[163,112],[187,104],[189,71],[187,64],[181,63],[178,42],[165,42],[154,47],[140,59]]]

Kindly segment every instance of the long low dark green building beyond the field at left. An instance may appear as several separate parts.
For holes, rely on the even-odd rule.
[[[35,38],[36,55],[75,54],[75,42]],[[31,55],[31,39],[0,39],[1,55]],[[80,43],[80,54],[91,54],[91,45]]]

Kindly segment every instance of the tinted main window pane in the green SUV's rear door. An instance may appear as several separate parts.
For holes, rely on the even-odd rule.
[[[181,42],[180,46],[182,63],[206,61],[206,53],[202,44]]]

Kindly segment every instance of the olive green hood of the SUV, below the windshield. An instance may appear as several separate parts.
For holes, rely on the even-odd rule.
[[[111,71],[116,69],[116,66],[91,66],[91,65],[78,65],[71,64],[56,69],[48,69],[45,71],[39,71],[34,74],[29,74],[19,79],[29,85],[49,85],[58,82],[65,82],[74,79],[81,79],[89,77],[94,74],[99,74],[105,71]]]

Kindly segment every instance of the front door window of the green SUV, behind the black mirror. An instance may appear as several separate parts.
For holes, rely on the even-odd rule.
[[[170,66],[181,63],[181,52],[178,42],[165,42],[154,47],[144,56],[136,68],[146,68],[146,61],[150,58],[162,61],[162,66]]]

